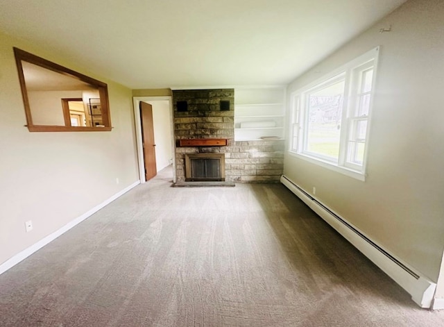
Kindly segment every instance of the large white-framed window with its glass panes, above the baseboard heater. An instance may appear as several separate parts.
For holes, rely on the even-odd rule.
[[[292,94],[291,153],[364,180],[378,51]]]

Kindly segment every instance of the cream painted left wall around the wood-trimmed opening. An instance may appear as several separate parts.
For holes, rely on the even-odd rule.
[[[112,131],[30,133],[12,47],[108,83]],[[135,183],[134,135],[131,90],[0,33],[0,265]]]

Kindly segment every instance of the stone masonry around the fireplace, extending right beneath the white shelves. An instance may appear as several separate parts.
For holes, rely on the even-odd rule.
[[[187,101],[187,111],[178,110],[178,101]],[[229,101],[229,110],[220,110],[220,101]],[[228,146],[178,146],[177,181],[185,181],[185,153],[225,153],[225,181],[279,181],[283,170],[284,141],[234,141],[234,90],[173,91],[174,137],[225,138]]]

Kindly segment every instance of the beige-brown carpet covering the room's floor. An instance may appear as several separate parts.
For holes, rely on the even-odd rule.
[[[139,185],[0,276],[0,326],[444,326],[280,184]]]

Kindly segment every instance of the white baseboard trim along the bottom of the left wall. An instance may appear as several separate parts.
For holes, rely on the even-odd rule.
[[[0,275],[3,274],[8,269],[10,269],[10,268],[14,267],[15,265],[17,265],[17,263],[19,263],[22,260],[28,258],[29,255],[31,255],[31,254],[35,253],[36,251],[42,249],[42,247],[45,246],[46,244],[49,244],[49,242],[52,242],[53,240],[56,240],[57,237],[59,237],[63,233],[66,233],[68,230],[70,230],[71,228],[73,228],[77,224],[80,224],[80,222],[84,221],[89,216],[91,216],[95,212],[101,210],[101,208],[107,206],[109,203],[111,203],[115,199],[119,198],[119,196],[122,196],[123,194],[125,194],[126,192],[128,192],[133,187],[136,187],[139,184],[140,184],[140,181],[136,181],[135,183],[129,185],[128,187],[124,188],[120,192],[117,192],[116,194],[111,196],[109,199],[106,199],[105,201],[103,201],[99,205],[95,206],[91,210],[88,210],[87,212],[85,212],[80,217],[77,217],[76,219],[70,221],[65,226],[62,226],[62,228],[59,228],[55,232],[53,232],[53,233],[49,234],[48,236],[42,238],[42,240],[40,240],[37,243],[29,246],[28,248],[24,249],[23,251],[17,253],[12,258],[6,260],[5,262],[3,262],[0,265]]]

